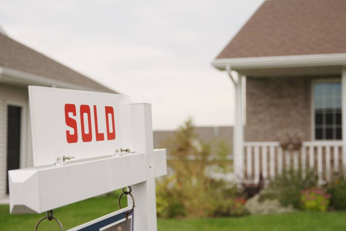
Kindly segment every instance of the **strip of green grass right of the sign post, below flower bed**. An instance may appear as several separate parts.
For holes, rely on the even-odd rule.
[[[295,212],[274,215],[211,218],[198,220],[158,220],[158,231],[300,231],[346,230],[346,212]]]

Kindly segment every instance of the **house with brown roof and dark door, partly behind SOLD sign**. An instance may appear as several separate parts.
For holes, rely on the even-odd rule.
[[[0,28],[0,197],[8,194],[8,170],[33,166],[28,85],[116,93]]]

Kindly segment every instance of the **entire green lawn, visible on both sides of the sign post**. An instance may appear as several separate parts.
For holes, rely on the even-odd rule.
[[[123,201],[125,205],[125,201]],[[118,192],[95,197],[54,211],[64,230],[106,215],[118,209]],[[44,214],[10,215],[9,206],[0,206],[1,231],[33,230]],[[232,218],[176,220],[158,219],[158,231],[209,230],[346,230],[346,212],[297,212],[289,214],[245,216]],[[38,230],[59,230],[55,221],[43,221]]]

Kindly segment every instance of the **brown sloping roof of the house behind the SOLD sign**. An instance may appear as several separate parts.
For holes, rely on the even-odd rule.
[[[102,92],[115,91],[0,33],[0,67],[39,75]]]

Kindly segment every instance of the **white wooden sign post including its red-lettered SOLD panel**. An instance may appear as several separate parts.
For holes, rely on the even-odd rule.
[[[35,167],[9,171],[10,213],[42,213],[131,186],[134,230],[157,230],[155,177],[167,165],[165,149],[153,149],[151,105],[33,86],[29,100]]]

